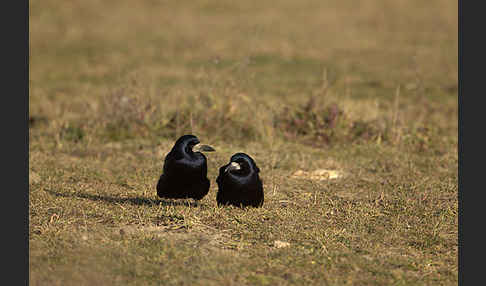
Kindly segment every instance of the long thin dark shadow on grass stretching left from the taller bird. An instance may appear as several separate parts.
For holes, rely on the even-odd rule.
[[[54,195],[56,197],[64,197],[64,198],[82,198],[88,199],[91,201],[104,201],[111,204],[132,204],[137,206],[186,206],[186,207],[198,207],[200,204],[198,202],[189,202],[187,200],[184,201],[176,201],[176,200],[152,200],[147,198],[115,198],[110,196],[102,196],[102,195],[94,195],[94,194],[87,194],[87,193],[60,193],[52,190],[45,189],[46,192]]]

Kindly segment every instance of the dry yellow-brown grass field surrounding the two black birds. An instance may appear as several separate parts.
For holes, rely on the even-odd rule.
[[[30,285],[457,284],[457,2],[29,3]],[[210,192],[159,200],[187,133]]]

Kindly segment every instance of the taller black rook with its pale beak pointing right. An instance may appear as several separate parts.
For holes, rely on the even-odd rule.
[[[202,199],[209,192],[208,165],[203,152],[215,151],[202,145],[194,135],[177,139],[164,160],[164,169],[157,182],[157,195],[166,199]]]

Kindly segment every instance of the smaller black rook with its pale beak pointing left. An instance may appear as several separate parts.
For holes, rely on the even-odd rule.
[[[263,205],[263,184],[258,176],[260,169],[245,153],[231,156],[230,162],[219,168],[218,205],[238,207],[261,207]]]

